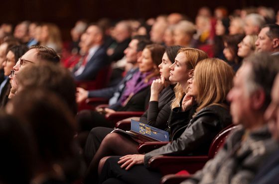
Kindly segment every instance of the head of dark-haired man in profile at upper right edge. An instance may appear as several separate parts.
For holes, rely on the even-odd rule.
[[[279,55],[279,25],[267,24],[265,25],[256,41],[258,52],[268,52],[271,55]]]

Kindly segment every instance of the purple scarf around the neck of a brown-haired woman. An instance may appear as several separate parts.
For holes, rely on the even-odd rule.
[[[144,79],[151,73],[152,72],[146,72],[143,74],[141,72],[137,72],[134,74],[133,78],[126,83],[125,91],[120,98],[122,106],[125,106],[134,94],[151,85],[152,81],[158,78],[157,76],[152,77],[145,83]]]

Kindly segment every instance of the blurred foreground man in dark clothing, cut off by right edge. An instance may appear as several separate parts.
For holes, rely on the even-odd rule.
[[[265,113],[273,138],[279,142],[279,75],[273,85],[272,102]],[[277,184],[279,181],[279,150],[269,157],[252,184]]]

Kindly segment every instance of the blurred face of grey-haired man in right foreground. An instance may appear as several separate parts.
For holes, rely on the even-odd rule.
[[[251,71],[249,65],[243,65],[238,75],[234,78],[234,87],[227,95],[227,100],[231,102],[230,111],[234,124],[249,123],[249,115],[251,114],[251,97],[247,90],[245,81]]]

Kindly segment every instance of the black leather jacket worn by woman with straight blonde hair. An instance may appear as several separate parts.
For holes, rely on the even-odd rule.
[[[176,118],[176,120],[180,121],[180,118]],[[221,105],[204,107],[189,121],[179,138],[161,148],[146,153],[144,165],[148,167],[149,159],[157,155],[186,156],[207,154],[214,137],[222,129],[230,125],[231,122],[231,115],[227,108]]]

